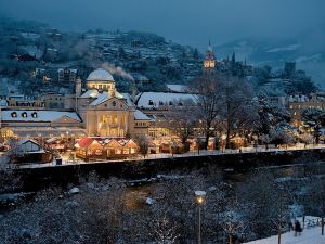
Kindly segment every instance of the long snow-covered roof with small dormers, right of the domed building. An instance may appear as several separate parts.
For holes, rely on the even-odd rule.
[[[157,108],[159,106],[174,105],[181,101],[195,102],[195,94],[169,92],[143,92],[136,100],[139,108]],[[176,104],[177,105],[177,104]]]

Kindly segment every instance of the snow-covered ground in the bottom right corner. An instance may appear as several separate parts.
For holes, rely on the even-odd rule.
[[[322,235],[321,227],[314,226],[318,218],[307,216],[306,227],[299,236],[295,236],[295,231],[286,232],[282,235],[282,244],[324,244],[325,235]],[[299,219],[302,223],[301,218]],[[308,224],[312,223],[312,224]],[[273,235],[268,239],[261,239],[253,242],[248,242],[247,244],[277,244],[277,235]]]

